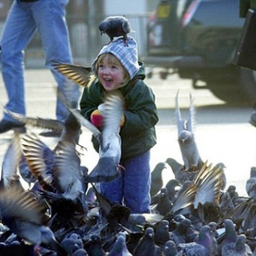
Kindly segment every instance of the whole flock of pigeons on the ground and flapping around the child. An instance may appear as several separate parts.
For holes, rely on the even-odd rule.
[[[84,86],[86,68],[54,65]],[[106,95],[102,131],[86,121],[70,99],[62,97],[62,101],[70,110],[64,123],[6,110],[24,122],[26,130],[14,130],[2,162],[1,255],[256,255],[256,167],[251,167],[246,182],[248,197],[240,197],[234,185],[226,188],[224,164],[212,165],[200,158],[194,139],[192,97],[188,119],[182,119],[179,92],[176,95],[183,163],[167,158],[155,166],[151,213],[144,214],[110,203],[98,190],[98,182],[119,175],[122,97]],[[116,115],[110,115],[113,109]],[[51,148],[36,134],[35,127],[62,134]],[[92,131],[100,143],[99,161],[93,170],[81,164],[86,147],[79,140],[83,128]],[[98,168],[102,158],[106,167],[114,167]],[[161,173],[167,165],[175,178],[163,185]]]

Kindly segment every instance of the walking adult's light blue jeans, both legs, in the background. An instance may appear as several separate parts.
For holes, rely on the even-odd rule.
[[[24,86],[24,50],[35,32],[40,33],[45,56],[45,66],[50,68],[58,85],[58,90],[80,97],[80,88],[52,67],[52,61],[72,63],[65,8],[68,0],[38,0],[20,2],[15,0],[11,6],[5,29],[2,34],[2,76],[8,93],[5,107],[15,113],[26,115]],[[68,86],[68,91],[67,87]],[[39,92],[38,92],[39,93]],[[57,98],[56,119],[64,120],[68,110]],[[11,120],[5,114],[4,119]]]

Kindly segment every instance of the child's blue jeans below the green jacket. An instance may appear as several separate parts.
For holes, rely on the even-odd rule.
[[[100,190],[112,203],[128,206],[131,213],[149,213],[151,173],[150,152],[122,160],[125,167],[118,179],[101,183]]]

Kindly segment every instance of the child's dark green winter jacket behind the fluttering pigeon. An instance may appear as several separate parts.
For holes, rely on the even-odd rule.
[[[156,144],[155,125],[158,113],[155,95],[152,89],[143,82],[145,66],[139,62],[140,70],[127,85],[119,88],[125,98],[125,125],[121,128],[122,159],[146,152]],[[104,88],[96,78],[89,87],[83,90],[80,109],[83,116],[90,120],[92,111],[103,102]],[[92,138],[98,151],[98,142]]]

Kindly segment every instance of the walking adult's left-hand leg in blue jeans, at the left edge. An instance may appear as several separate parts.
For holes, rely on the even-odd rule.
[[[8,93],[6,109],[26,114],[24,49],[35,35],[36,26],[27,4],[14,1],[2,34],[2,77]],[[13,121],[8,114],[4,119]]]

